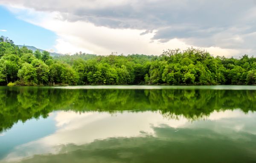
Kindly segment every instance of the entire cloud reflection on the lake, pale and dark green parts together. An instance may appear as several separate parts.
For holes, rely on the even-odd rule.
[[[116,112],[114,116],[107,112],[59,111],[51,117],[55,120],[54,133],[16,146],[2,161],[139,163],[171,159],[176,163],[202,158],[208,158],[207,162],[256,159],[253,112],[214,111],[207,120],[193,123],[185,117],[167,119],[151,111]]]

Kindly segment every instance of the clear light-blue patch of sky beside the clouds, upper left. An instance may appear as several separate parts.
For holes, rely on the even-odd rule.
[[[17,19],[3,6],[0,6],[0,35],[9,37],[16,45],[33,45],[42,49],[53,48],[56,34],[45,28]]]

